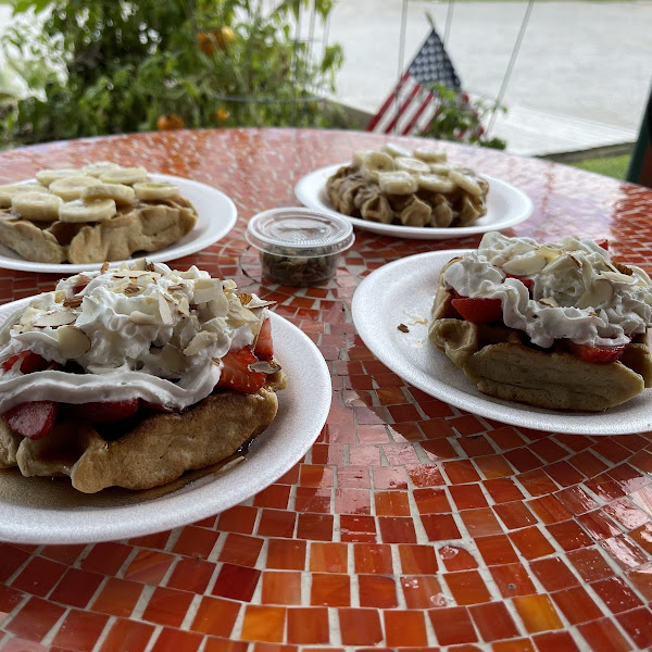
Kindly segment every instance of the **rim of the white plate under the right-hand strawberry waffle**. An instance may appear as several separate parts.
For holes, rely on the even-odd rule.
[[[639,425],[636,428],[627,426],[629,423],[627,418],[623,418],[623,412],[627,410],[627,405],[631,406],[635,402],[640,403],[644,400],[647,403],[652,398],[652,389],[645,389],[642,393],[638,394],[631,401],[627,401],[622,405],[616,405],[601,413],[590,412],[562,412],[554,410],[544,410],[540,408],[528,406],[524,403],[517,403],[515,401],[505,401],[479,392],[469,380],[468,391],[460,390],[451,385],[446,384],[443,380],[436,380],[437,391],[432,391],[430,384],[426,385],[421,381],[416,374],[416,369],[406,364],[405,366],[397,365],[394,360],[391,358],[389,352],[391,347],[387,346],[387,341],[375,338],[371,335],[373,331],[372,326],[378,323],[377,317],[365,311],[366,304],[376,305],[381,309],[381,303],[369,303],[369,299],[378,297],[378,292],[375,290],[375,284],[380,283],[385,288],[388,287],[388,283],[384,283],[387,277],[397,278],[400,276],[400,267],[414,265],[415,267],[421,265],[422,273],[438,274],[441,266],[451,258],[455,255],[462,255],[474,249],[444,249],[437,251],[427,251],[424,253],[417,253],[414,255],[404,256],[387,263],[381,267],[378,267],[365,277],[355,289],[353,299],[351,302],[351,314],[353,324],[358,334],[364,341],[365,346],[372,351],[380,362],[383,362],[388,368],[400,376],[406,383],[421,389],[425,393],[436,399],[442,400],[460,410],[464,410],[472,414],[499,421],[504,424],[527,427],[535,430],[542,430],[547,432],[563,432],[565,435],[585,435],[585,436],[611,436],[611,435],[630,435],[632,432],[647,431],[652,429],[652,413],[650,414],[649,422],[647,425]],[[437,261],[437,265],[434,263],[432,266],[424,265],[424,261],[432,259]],[[403,278],[405,276],[403,275]],[[390,292],[387,291],[387,294]],[[429,306],[427,314],[430,314]],[[428,346],[426,343],[426,346]],[[444,353],[441,353],[444,355]],[[404,361],[403,361],[404,362]],[[452,365],[452,363],[451,363]],[[457,377],[463,375],[462,369],[457,367],[452,368]],[[475,390],[475,391],[474,391]],[[528,416],[530,415],[530,416]],[[531,416],[534,415],[534,417]],[[537,418],[539,415],[539,418]],[[605,415],[607,418],[601,419],[601,423],[595,423],[601,416]],[[542,417],[546,418],[542,418]],[[570,419],[575,419],[570,422]],[[569,422],[569,423],[568,423]]]

